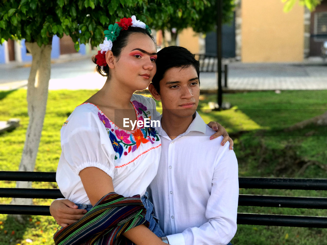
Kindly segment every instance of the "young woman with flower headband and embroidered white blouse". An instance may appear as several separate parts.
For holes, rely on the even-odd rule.
[[[146,89],[156,72],[156,45],[148,27],[137,21],[135,16],[121,19],[108,29],[105,31],[106,39],[100,45],[101,51],[94,58],[98,72],[107,76],[107,81],[101,90],[77,106],[64,123],[61,129],[62,153],[57,169],[57,183],[65,198],[77,204],[79,209],[89,211],[95,206],[90,211],[94,213],[87,221],[90,223],[73,228],[67,226],[57,232],[54,239],[56,244],[73,244],[73,241],[80,239],[80,244],[80,241],[86,242],[90,238],[95,241],[106,237],[96,244],[107,244],[107,241],[119,240],[117,237],[123,235],[137,245],[164,244],[159,238],[163,232],[153,218],[153,205],[146,193],[147,186],[157,173],[160,138],[152,127],[136,125],[133,128],[131,125],[157,116],[154,100],[133,94]],[[126,119],[132,123],[125,125]],[[139,196],[133,199],[135,195]],[[140,197],[137,203],[136,199]],[[59,203],[65,205],[64,201]],[[111,229],[112,232],[117,227],[128,228],[110,235],[105,232],[87,236],[90,224],[96,227],[93,223],[99,217],[96,208],[109,203],[124,206],[125,209],[119,210],[121,217],[115,218],[119,225],[101,229]],[[56,207],[56,202],[51,205],[53,215],[60,212],[58,205]],[[140,213],[143,205],[146,214]],[[136,206],[141,207],[134,208]],[[101,215],[109,217],[110,210],[113,210],[112,206],[106,206]],[[124,216],[126,213],[130,214],[128,218]],[[139,217],[142,215],[149,222],[148,228],[143,224],[146,221]],[[127,219],[130,223],[125,223]],[[65,216],[63,221],[60,224],[65,226],[75,220]],[[113,224],[110,219],[108,223]],[[76,233],[76,230],[80,233]]]

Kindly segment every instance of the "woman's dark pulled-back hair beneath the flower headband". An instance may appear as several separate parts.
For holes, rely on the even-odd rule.
[[[143,33],[145,35],[148,35],[154,42],[153,37],[151,36],[151,34],[146,29],[143,29],[141,27],[129,26],[127,30],[124,30],[124,29],[121,30],[118,37],[116,38],[116,40],[112,42],[111,51],[112,51],[112,53],[113,53],[113,55],[115,57],[120,56],[120,53],[121,53],[122,49],[124,47],[126,47],[126,45],[128,43],[128,38],[132,33]],[[95,55],[92,56],[92,61],[96,64]],[[108,76],[108,78],[110,77],[108,65],[103,67],[103,71],[101,69],[101,66],[96,65],[96,71],[102,76]]]

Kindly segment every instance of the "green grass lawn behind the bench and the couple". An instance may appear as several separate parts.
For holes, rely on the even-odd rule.
[[[35,171],[55,172],[60,157],[60,128],[74,108],[95,91],[49,91],[47,112]],[[217,121],[234,139],[239,176],[327,178],[327,127],[308,126],[284,132],[290,125],[327,110],[327,91],[273,91],[224,94],[232,109],[210,111],[215,95],[201,95],[198,111],[204,121]],[[158,103],[160,106],[160,103]],[[0,91],[0,121],[19,118],[20,127],[0,135],[0,170],[17,171],[28,125],[26,90]],[[1,187],[15,182],[1,181]],[[33,188],[57,188],[55,183],[33,183]],[[240,189],[241,194],[326,197],[324,191]],[[9,198],[0,199],[2,204]],[[51,200],[34,200],[50,204]],[[239,212],[327,216],[326,210],[239,207]],[[0,214],[0,244],[53,244],[58,225],[51,217],[30,216],[24,224]],[[234,245],[327,244],[327,230],[260,225],[238,225]],[[26,239],[33,242],[29,243]]]

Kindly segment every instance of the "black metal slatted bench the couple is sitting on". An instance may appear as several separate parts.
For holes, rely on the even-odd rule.
[[[56,182],[55,172],[0,171],[0,180]],[[327,179],[239,178],[240,188],[327,190]],[[0,188],[0,197],[62,198],[59,189]],[[327,209],[327,198],[239,195],[239,206]],[[1,204],[1,214],[50,215],[49,206]],[[237,214],[238,224],[327,228],[327,217]]]

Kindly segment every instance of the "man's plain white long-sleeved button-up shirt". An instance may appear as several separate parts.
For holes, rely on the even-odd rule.
[[[173,245],[226,245],[236,233],[238,167],[229,142],[196,113],[171,140],[162,128],[159,169],[148,190],[160,226]]]

